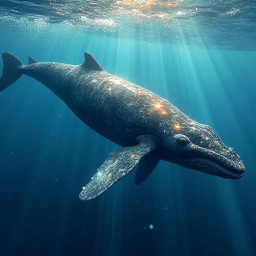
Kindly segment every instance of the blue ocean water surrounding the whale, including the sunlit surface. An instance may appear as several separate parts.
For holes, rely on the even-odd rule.
[[[0,0],[0,52],[109,73],[210,125],[246,170],[221,179],[160,161],[78,198],[120,147],[22,75],[0,92],[0,256],[256,255],[256,2]],[[2,62],[0,61],[0,70]]]

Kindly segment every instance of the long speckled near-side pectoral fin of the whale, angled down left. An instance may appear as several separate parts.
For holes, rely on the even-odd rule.
[[[127,175],[143,156],[157,146],[157,139],[152,135],[138,136],[137,142],[135,146],[124,147],[109,153],[90,182],[82,188],[79,198],[86,201],[100,195],[117,180]]]

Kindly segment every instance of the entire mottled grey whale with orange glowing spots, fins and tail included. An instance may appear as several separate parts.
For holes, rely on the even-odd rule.
[[[239,155],[208,125],[200,124],[166,99],[104,71],[88,52],[81,65],[37,62],[28,65],[2,53],[0,91],[22,74],[33,77],[86,125],[122,146],[109,153],[79,198],[92,199],[136,165],[135,182],[142,183],[159,160],[170,161],[223,178],[237,179],[245,170]]]

